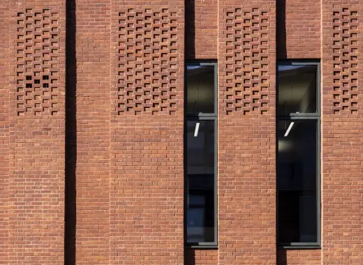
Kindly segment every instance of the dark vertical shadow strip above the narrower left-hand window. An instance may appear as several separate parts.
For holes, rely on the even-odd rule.
[[[195,0],[185,1],[185,59],[195,59]]]

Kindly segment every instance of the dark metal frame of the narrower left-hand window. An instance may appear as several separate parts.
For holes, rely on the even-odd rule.
[[[188,66],[213,66],[214,67],[214,113],[188,114],[187,112],[187,67]],[[186,61],[184,66],[184,246],[186,248],[218,248],[218,63],[217,61],[191,60]],[[188,197],[188,175],[187,169],[187,136],[188,121],[214,121],[214,241],[213,242],[187,242],[187,202]]]

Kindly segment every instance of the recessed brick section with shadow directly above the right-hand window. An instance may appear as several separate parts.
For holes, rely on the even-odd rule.
[[[320,0],[276,1],[278,59],[320,59]]]

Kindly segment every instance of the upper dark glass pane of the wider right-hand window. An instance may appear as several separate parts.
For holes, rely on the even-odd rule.
[[[279,65],[277,113],[316,113],[318,66]]]

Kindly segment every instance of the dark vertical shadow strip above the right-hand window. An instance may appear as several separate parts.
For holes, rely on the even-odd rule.
[[[276,2],[276,55],[277,59],[287,59],[286,51],[286,0]]]

